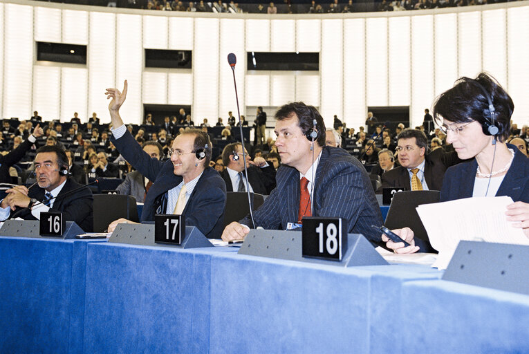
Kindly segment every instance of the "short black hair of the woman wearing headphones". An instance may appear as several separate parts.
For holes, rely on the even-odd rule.
[[[487,95],[494,105],[494,125],[499,129],[498,140],[503,142],[509,136],[514,103],[494,77],[486,73],[480,73],[476,79],[460,77],[454,87],[441,93],[434,102],[434,120],[437,124],[440,124],[442,119],[454,123],[475,120],[481,125],[490,124]]]

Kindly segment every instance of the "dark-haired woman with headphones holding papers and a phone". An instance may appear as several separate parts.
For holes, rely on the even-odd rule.
[[[494,112],[488,97],[492,100]],[[440,201],[472,196],[510,196],[505,217],[513,227],[523,229],[529,237],[529,160],[514,145],[505,144],[510,130],[514,103],[508,93],[485,73],[475,80],[461,77],[454,87],[437,97],[434,120],[447,133],[459,158],[472,159],[450,167],[445,174]],[[494,125],[498,128],[495,136]],[[396,253],[422,250],[414,232],[405,227],[393,230],[410,245],[393,243],[382,236],[387,247]]]

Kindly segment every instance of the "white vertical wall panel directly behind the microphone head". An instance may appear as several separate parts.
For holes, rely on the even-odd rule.
[[[232,68],[228,64],[228,54],[234,53],[237,58],[235,66],[235,79],[239,94],[239,107],[241,114],[245,115],[244,79],[246,53],[244,51],[244,20],[221,19],[221,52],[219,56],[220,84],[219,84],[219,115],[227,117],[232,111],[237,118],[237,104],[233,86]],[[210,117],[211,119],[217,117]],[[210,119],[210,120],[211,120]],[[237,118],[238,119],[238,118]],[[216,122],[216,120],[211,120]]]

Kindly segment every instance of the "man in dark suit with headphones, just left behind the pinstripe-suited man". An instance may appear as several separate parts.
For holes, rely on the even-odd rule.
[[[264,158],[256,157],[252,161],[248,151],[244,149],[250,192],[270,194],[275,187],[275,169],[268,165]],[[244,175],[243,148],[240,142],[234,142],[224,147],[222,160],[226,169],[221,176],[226,183],[226,192],[246,192],[246,177]]]

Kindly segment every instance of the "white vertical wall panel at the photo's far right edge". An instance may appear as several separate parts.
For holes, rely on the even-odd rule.
[[[529,117],[529,6],[507,11],[508,93],[514,101],[512,120],[528,124]]]

